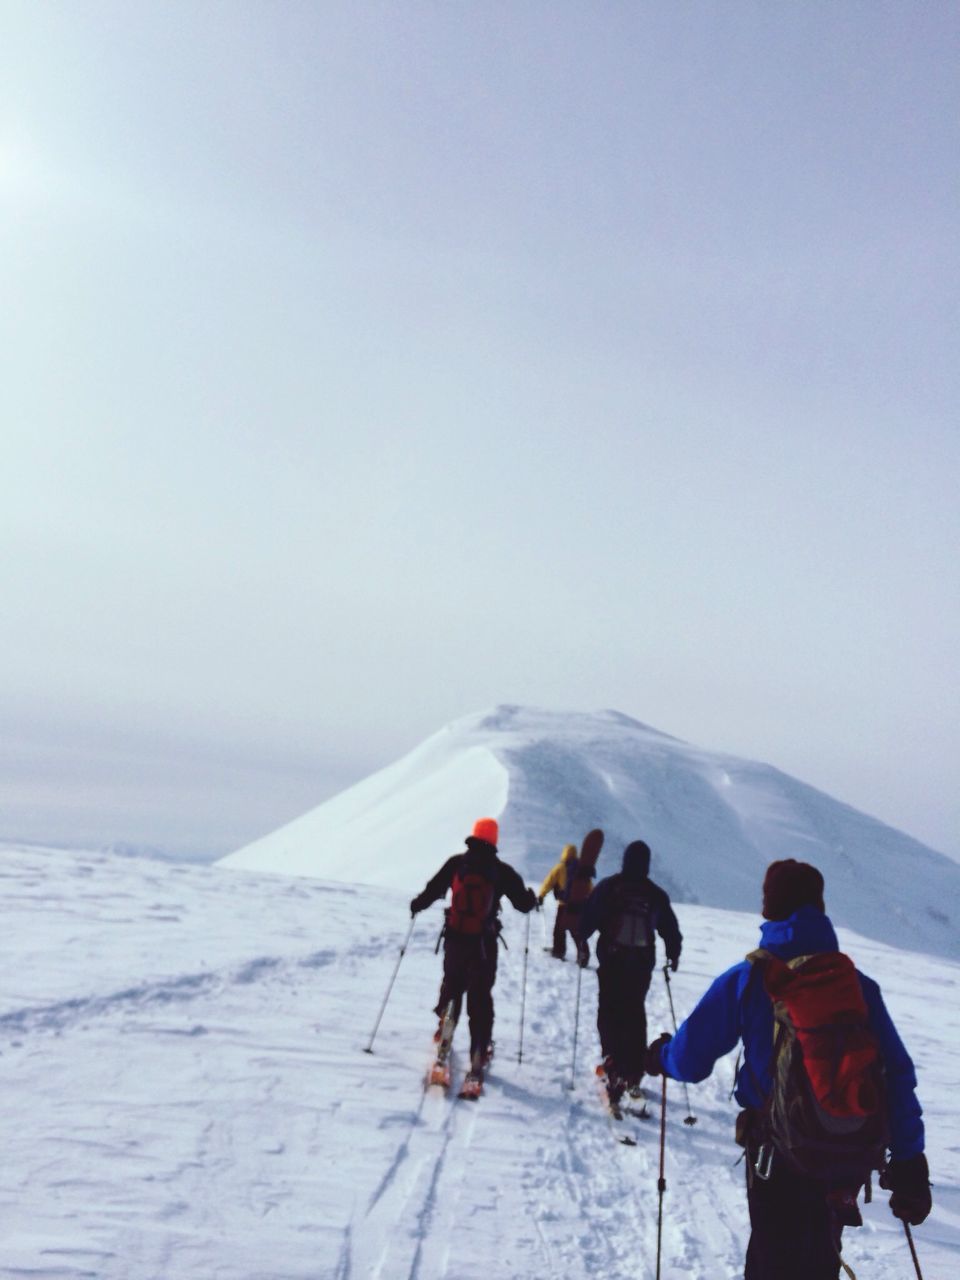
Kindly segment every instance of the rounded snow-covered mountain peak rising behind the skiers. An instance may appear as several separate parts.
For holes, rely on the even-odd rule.
[[[223,863],[412,893],[481,814],[499,818],[503,856],[531,881],[602,827],[602,873],[641,837],[673,897],[741,911],[759,904],[772,859],[800,858],[824,873],[840,924],[960,957],[960,865],[780,769],[618,712],[470,716]]]

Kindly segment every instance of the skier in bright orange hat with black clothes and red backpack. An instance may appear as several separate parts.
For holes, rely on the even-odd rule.
[[[497,980],[497,946],[500,933],[500,899],[508,897],[517,911],[532,911],[536,893],[520,874],[497,856],[499,828],[494,818],[479,818],[466,838],[466,852],[448,858],[428,881],[422,893],[411,901],[412,915],[451,892],[443,927],[443,980],[434,1010],[440,1025],[434,1036],[439,1044],[433,1079],[449,1083],[447,1059],[460,1018],[463,996],[470,1019],[470,1073],[466,1087],[471,1097],[480,1092],[484,1068],[493,1053],[493,984]],[[472,1091],[472,1092],[471,1092]]]

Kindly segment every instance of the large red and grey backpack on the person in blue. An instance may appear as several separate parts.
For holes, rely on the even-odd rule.
[[[809,1178],[852,1193],[882,1169],[888,1142],[879,1044],[852,960],[840,951],[748,960],[773,1006],[771,1089],[755,1172],[773,1151]]]

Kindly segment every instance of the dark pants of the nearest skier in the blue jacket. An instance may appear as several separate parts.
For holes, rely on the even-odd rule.
[[[842,1228],[827,1206],[827,1185],[795,1172],[776,1151],[767,1181],[754,1172],[755,1149],[748,1148],[746,1161],[744,1280],[837,1280]]]

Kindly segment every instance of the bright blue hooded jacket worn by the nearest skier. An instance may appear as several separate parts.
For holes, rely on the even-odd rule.
[[[764,922],[760,946],[781,960],[840,950],[833,925],[815,906],[801,906],[786,920]],[[763,1106],[771,1088],[773,1007],[759,974],[750,982],[753,972],[750,961],[741,960],[722,973],[660,1051],[667,1075],[696,1083],[705,1080],[717,1059],[742,1041],[744,1061],[735,1093],[744,1107]],[[923,1112],[916,1100],[916,1073],[879,987],[859,970],[858,977],[886,1071],[891,1156],[906,1160],[923,1151]]]

